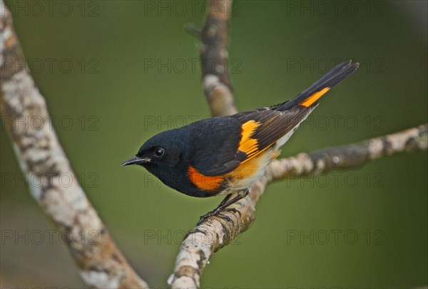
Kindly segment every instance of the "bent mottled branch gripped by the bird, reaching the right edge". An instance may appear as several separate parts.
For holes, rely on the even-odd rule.
[[[327,148],[315,153],[300,153],[272,161],[266,174],[251,188],[246,198],[231,207],[235,213],[222,212],[232,221],[210,217],[186,235],[170,277],[171,288],[200,286],[200,275],[211,255],[228,245],[239,233],[250,228],[255,220],[255,205],[271,181],[290,176],[317,175],[337,168],[357,168],[370,161],[405,151],[424,151],[428,146],[428,124],[349,146]]]

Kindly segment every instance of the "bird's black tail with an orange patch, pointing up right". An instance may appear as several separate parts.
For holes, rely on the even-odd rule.
[[[278,111],[286,111],[297,105],[305,107],[317,106],[317,100],[320,99],[327,91],[330,90],[337,83],[340,83],[343,79],[354,73],[360,64],[352,64],[352,61],[345,61],[342,64],[337,65],[334,69],[330,70],[322,76],[319,81],[315,82],[302,93],[299,93],[295,98],[290,99],[285,103],[272,107]]]

